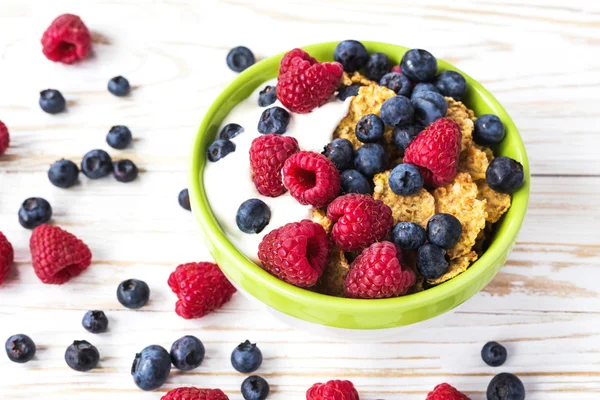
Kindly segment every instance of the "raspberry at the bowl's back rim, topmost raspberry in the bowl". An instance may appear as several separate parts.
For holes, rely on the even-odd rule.
[[[277,98],[292,112],[309,113],[327,103],[343,72],[338,62],[319,63],[304,50],[294,49],[281,60]]]

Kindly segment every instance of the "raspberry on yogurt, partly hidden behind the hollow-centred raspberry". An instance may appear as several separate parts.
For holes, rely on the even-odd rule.
[[[283,163],[300,150],[298,141],[275,133],[261,135],[250,146],[252,181],[263,196],[277,197],[285,193],[281,179]]]

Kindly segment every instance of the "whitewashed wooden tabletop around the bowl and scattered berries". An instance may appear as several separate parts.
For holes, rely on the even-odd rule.
[[[45,60],[39,44],[63,12],[81,15],[95,32],[94,57],[73,67]],[[167,277],[179,263],[209,255],[177,194],[203,113],[235,76],[227,51],[243,44],[266,57],[346,38],[429,49],[483,82],[512,115],[533,177],[527,220],[506,267],[444,326],[380,343],[310,336],[241,295],[211,316],[184,321],[173,312]],[[0,158],[0,231],[15,247],[16,266],[0,287],[0,341],[27,333],[39,351],[26,365],[0,354],[0,398],[149,400],[194,385],[238,400],[243,376],[229,354],[245,339],[263,350],[259,373],[273,400],[303,399],[312,383],[331,378],[352,380],[367,400],[422,400],[444,381],[483,400],[500,371],[522,378],[528,400],[600,398],[599,38],[600,7],[584,0],[3,1],[0,120],[12,147]],[[135,86],[131,97],[106,91],[118,74]],[[62,91],[67,113],[39,109],[38,92],[46,88]],[[132,148],[110,153],[138,164],[135,183],[81,179],[61,190],[48,182],[57,159],[79,162],[90,149],[108,150],[104,138],[115,124],[133,131]],[[53,223],[93,251],[93,266],[64,286],[43,285],[33,273],[30,232],[17,222],[29,196],[50,201]],[[115,296],[131,277],[152,290],[138,312],[124,310]],[[89,309],[106,311],[109,333],[83,330]],[[139,391],[129,374],[136,351],[169,347],[184,334],[205,343],[203,365],[173,372],[160,392]],[[63,354],[74,339],[99,348],[100,368],[67,367]],[[508,347],[504,367],[480,360],[488,340]]]

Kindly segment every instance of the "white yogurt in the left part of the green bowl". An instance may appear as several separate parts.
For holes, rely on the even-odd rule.
[[[258,93],[265,85],[275,86],[277,80],[261,85],[246,100],[238,104],[225,118],[220,130],[229,123],[236,123],[244,131],[232,139],[235,151],[217,162],[207,162],[204,170],[204,189],[213,214],[221,228],[238,250],[254,262],[258,261],[258,245],[262,238],[290,222],[310,218],[312,208],[298,203],[288,192],[279,197],[265,197],[258,193],[250,172],[250,145],[261,134],[257,130],[258,120],[268,107],[259,107]],[[290,123],[284,135],[298,140],[301,150],[321,152],[331,142],[333,132],[340,121],[348,114],[351,97],[342,102],[332,98],[327,104],[308,114],[290,112]],[[276,101],[269,107],[283,105]],[[271,209],[271,220],[262,232],[244,233],[236,222],[237,210],[248,199],[260,199]]]

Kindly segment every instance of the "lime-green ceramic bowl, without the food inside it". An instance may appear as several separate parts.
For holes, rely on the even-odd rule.
[[[369,52],[387,54],[398,64],[405,47],[378,42],[363,42]],[[337,42],[306,46],[304,49],[319,61],[332,61]],[[206,246],[229,279],[246,294],[268,307],[291,317],[328,327],[373,330],[414,324],[445,313],[485,287],[510,253],[527,209],[529,199],[529,164],[519,132],[498,101],[474,79],[454,66],[438,60],[440,70],[456,70],[468,82],[463,100],[476,115],[496,114],[504,122],[507,135],[496,154],[518,160],[525,168],[525,187],[513,195],[510,210],[496,225],[495,237],[485,254],[466,272],[429,290],[394,299],[355,300],[336,298],[289,285],[254,264],[227,239],[217,223],[203,187],[206,149],[216,136],[224,117],[263,82],[275,78],[283,54],[263,60],[242,72],[215,100],[206,113],[193,148],[190,195],[194,215],[202,230]]]

